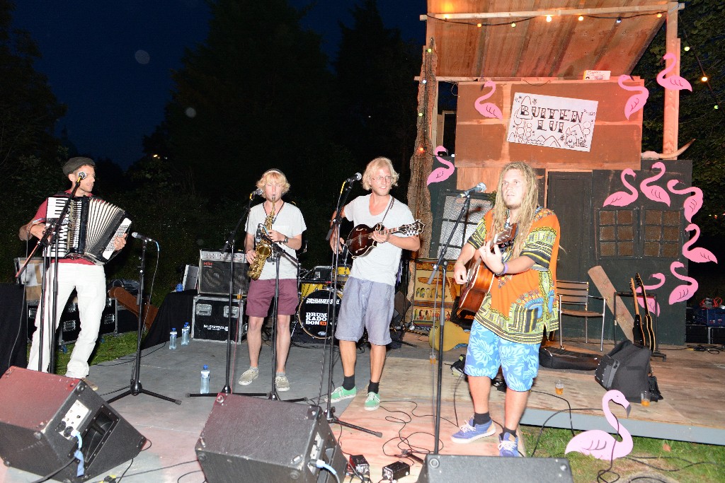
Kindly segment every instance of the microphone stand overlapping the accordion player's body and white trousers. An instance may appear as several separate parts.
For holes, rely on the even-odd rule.
[[[30,259],[33,258],[33,253],[36,253],[36,250],[41,245],[43,247],[50,246],[51,252],[53,253],[53,261],[51,262],[51,266],[54,267],[53,273],[52,273],[52,281],[53,281],[53,291],[51,292],[51,300],[50,303],[52,304],[51,307],[51,321],[49,322],[46,317],[45,313],[45,307],[46,307],[46,293],[47,293],[47,287],[46,287],[46,275],[47,275],[47,261],[46,256],[43,254],[43,275],[41,277],[41,303],[38,309],[41,311],[41,319],[40,324],[38,325],[38,372],[43,371],[43,347],[45,345],[45,329],[50,330],[49,335],[49,365],[48,365],[48,372],[49,374],[54,374],[55,372],[55,357],[54,357],[54,350],[55,350],[55,322],[58,316],[58,245],[53,247],[53,243],[55,240],[59,238],[60,233],[60,227],[63,224],[63,220],[67,217],[68,211],[70,210],[70,201],[72,201],[72,198],[75,196],[75,192],[78,191],[78,187],[80,186],[80,181],[83,180],[80,176],[78,177],[78,180],[76,180],[75,185],[73,186],[73,189],[68,195],[67,200],[65,201],[65,205],[63,206],[63,209],[60,211],[60,214],[58,215],[58,219],[54,222],[54,224],[51,224],[46,227],[45,230],[43,230],[43,235],[41,235],[41,238],[38,238],[38,243],[36,243],[35,248],[33,248],[33,251],[30,252],[30,256],[25,258],[25,263],[22,264],[20,269],[17,271],[17,274],[15,274],[15,277],[20,277],[22,272],[25,271],[25,267],[28,266],[28,263],[30,262]],[[47,203],[46,203],[46,221],[48,217],[47,212]],[[52,329],[51,329],[52,327]]]

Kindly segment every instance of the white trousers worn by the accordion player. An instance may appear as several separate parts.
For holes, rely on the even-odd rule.
[[[43,333],[43,372],[48,371],[50,365],[50,330],[51,319],[53,269],[48,271],[46,276],[46,327]],[[65,372],[67,377],[86,377],[88,375],[88,358],[96,347],[98,332],[101,327],[101,316],[106,306],[106,274],[103,266],[83,264],[58,264],[58,298],[57,298],[57,319],[54,327],[57,329],[60,316],[65,303],[75,288],[78,293],[78,315],[80,317],[80,333],[75,347],[70,354],[70,361]],[[38,348],[40,347],[40,323],[41,311],[38,307],[36,314],[36,332],[33,333],[33,344],[30,346],[28,357],[28,369],[38,370]]]

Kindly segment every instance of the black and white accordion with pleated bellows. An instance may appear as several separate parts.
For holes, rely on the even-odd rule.
[[[58,221],[67,196],[48,198],[46,225]],[[123,209],[99,198],[71,198],[68,214],[63,219],[58,237],[43,254],[61,258],[86,259],[105,264],[115,256],[113,238],[123,235],[131,220]]]

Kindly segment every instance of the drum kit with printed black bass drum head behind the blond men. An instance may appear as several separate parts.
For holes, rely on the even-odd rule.
[[[350,275],[349,265],[337,268],[337,290],[334,290],[334,267],[315,266],[302,271],[299,279],[299,308],[297,322],[307,335],[315,339],[328,339],[332,336],[328,322],[339,314],[342,290]]]

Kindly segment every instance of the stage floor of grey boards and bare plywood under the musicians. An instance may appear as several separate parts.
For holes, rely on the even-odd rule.
[[[384,466],[399,460],[411,465],[410,475],[400,481],[415,482],[421,471],[421,463],[403,455],[403,450],[413,448],[415,454],[421,458],[425,458],[425,453],[434,450],[438,366],[431,363],[432,354],[427,336],[407,333],[405,341],[413,344],[413,347],[403,345],[402,348],[389,350],[381,382],[381,408],[377,411],[365,411],[363,407],[363,392],[370,377],[368,350],[363,350],[357,358],[356,377],[360,392],[356,398],[342,401],[335,406],[335,413],[341,421],[383,434],[382,437],[376,437],[340,424],[331,424],[332,432],[346,458],[348,455],[364,455],[368,460],[373,482],[381,479]],[[566,346],[569,350],[589,349],[594,352],[598,349],[595,343],[584,345],[570,342]],[[608,347],[605,345],[605,351],[611,348],[611,344]],[[664,400],[652,403],[649,408],[633,404],[629,419],[626,418],[624,409],[616,404],[611,405],[613,412],[635,436],[725,444],[725,408],[722,404],[725,350],[710,353],[666,347],[663,352],[667,355],[666,361],[653,359],[653,371],[658,377]],[[465,379],[450,369],[450,364],[460,354],[465,354],[465,348],[450,350],[443,357],[439,453],[497,455],[497,435],[466,445],[450,441],[450,434],[473,413]],[[210,416],[214,398],[187,398],[186,393],[198,390],[202,364],[209,364],[212,370],[212,390],[220,390],[225,379],[225,358],[225,344],[203,340],[192,340],[191,345],[175,351],[168,350],[165,345],[144,350],[141,364],[141,382],[144,389],[178,398],[181,405],[177,406],[149,395],[128,396],[112,403],[111,406],[144,434],[152,445],[133,461],[120,464],[91,481],[100,482],[109,474],[120,476],[128,468],[123,481],[204,482],[204,474],[196,460],[194,448]],[[236,379],[248,366],[245,342],[233,345],[232,359],[234,364],[231,383],[234,391],[245,390],[262,394],[268,392],[272,379],[268,345],[265,344],[262,348],[260,377],[252,385],[243,387],[236,384]],[[293,346],[287,366],[291,390],[281,392],[281,399],[307,398],[309,403],[318,403],[320,394],[325,395],[328,387],[323,359],[326,356],[320,344]],[[89,377],[99,383],[99,395],[107,400],[117,391],[128,388],[132,366],[132,357],[121,358],[92,366]],[[333,381],[339,385],[341,379],[338,362],[334,367]],[[560,398],[555,396],[556,379],[562,379],[565,383],[565,390]],[[595,382],[593,371],[555,371],[542,368],[533,390],[523,424],[538,426],[548,419],[548,427],[568,427],[568,413],[555,414],[566,409],[568,401],[572,408],[592,408],[573,410],[571,421],[574,429],[613,431],[602,416],[601,399],[605,390]],[[41,390],[38,397],[42,397]],[[239,396],[246,397],[248,396]],[[503,392],[492,392],[491,412],[497,423],[502,421],[503,400]],[[279,405],[278,401],[267,402],[270,405],[270,414],[283,410],[279,409],[283,405],[276,406]],[[320,406],[326,409],[327,405],[323,402]],[[240,414],[239,417],[244,415]],[[274,418],[270,418],[268,424],[270,427],[275,424]],[[261,424],[255,431],[264,437],[270,433],[270,427]],[[500,426],[497,426],[497,434],[498,432]],[[523,440],[522,443],[522,446],[526,445]],[[37,478],[34,474],[0,465],[2,482],[28,483]]]

